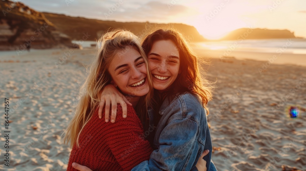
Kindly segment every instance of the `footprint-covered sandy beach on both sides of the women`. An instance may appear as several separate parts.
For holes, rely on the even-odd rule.
[[[195,50],[202,56],[216,53]],[[15,51],[0,52],[1,109],[4,98],[10,104],[9,167],[4,166],[7,129],[1,122],[0,169],[66,170],[71,149],[60,136],[73,117],[78,89],[95,52],[94,48],[33,49],[19,56]],[[273,56],[266,55],[270,57],[259,57]],[[306,67],[280,64],[277,59],[243,60],[234,53],[230,56],[237,59],[218,56],[210,56],[217,57],[211,66],[203,65],[206,78],[217,81],[218,87],[207,116],[217,169],[306,170]],[[288,56],[305,66],[305,56]],[[289,118],[289,105],[300,107],[298,118]]]

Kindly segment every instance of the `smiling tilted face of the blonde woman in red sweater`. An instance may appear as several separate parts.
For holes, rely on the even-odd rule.
[[[149,92],[146,64],[140,53],[131,46],[115,54],[108,72],[122,93],[144,96]]]

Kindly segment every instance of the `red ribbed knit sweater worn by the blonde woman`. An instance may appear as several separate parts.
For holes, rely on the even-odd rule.
[[[143,127],[135,110],[128,106],[127,117],[122,117],[118,104],[115,123],[99,119],[95,110],[81,131],[80,147],[74,144],[68,163],[68,171],[76,171],[71,165],[76,162],[91,170],[131,170],[139,163],[149,160],[150,143],[143,138]],[[105,109],[103,115],[105,115]]]

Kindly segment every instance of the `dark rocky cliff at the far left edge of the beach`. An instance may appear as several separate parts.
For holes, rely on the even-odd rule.
[[[58,31],[43,13],[21,2],[0,1],[0,50],[73,47],[71,38]]]

